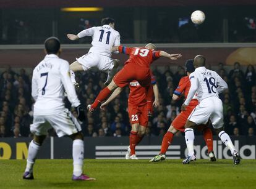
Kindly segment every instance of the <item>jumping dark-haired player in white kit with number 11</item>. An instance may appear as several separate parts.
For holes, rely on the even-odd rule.
[[[120,45],[120,34],[114,30],[114,19],[103,18],[101,25],[98,27],[88,28],[79,34],[67,34],[67,38],[74,41],[85,36],[92,36],[92,47],[89,52],[70,65],[71,80],[75,84],[76,71],[87,71],[93,67],[97,67],[101,71],[108,73],[105,85],[111,82],[114,74],[116,74],[119,60],[111,58],[112,47]],[[114,52],[118,53],[118,51]],[[77,84],[76,84],[77,85]]]

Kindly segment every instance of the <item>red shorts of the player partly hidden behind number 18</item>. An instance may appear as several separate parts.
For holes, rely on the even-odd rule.
[[[186,111],[181,111],[181,113],[179,115],[177,115],[177,117],[173,120],[173,123],[171,123],[171,125],[181,131],[184,132],[185,131],[185,124],[187,122],[187,118],[189,118],[191,112],[195,109],[195,107],[198,105],[198,101],[197,100],[192,100],[189,105],[186,108]]]

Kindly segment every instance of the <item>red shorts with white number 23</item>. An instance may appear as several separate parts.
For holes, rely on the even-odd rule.
[[[128,113],[130,124],[139,123],[140,126],[148,126],[148,106],[147,103],[142,106],[132,105],[128,103]]]

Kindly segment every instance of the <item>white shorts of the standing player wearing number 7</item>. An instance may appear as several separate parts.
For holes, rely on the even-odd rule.
[[[58,137],[82,131],[77,119],[66,108],[64,111],[54,115],[34,116],[33,124],[30,125],[30,131],[38,136],[47,135],[51,127],[56,131]]]

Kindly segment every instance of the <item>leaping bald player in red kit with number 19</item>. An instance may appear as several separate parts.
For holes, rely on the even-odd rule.
[[[181,57],[181,54],[168,54],[167,52],[154,49],[156,49],[156,46],[151,43],[145,47],[113,47],[113,51],[118,50],[129,55],[129,60],[124,63],[124,68],[114,76],[111,83],[101,90],[92,105],[88,105],[89,111],[93,112],[99,103],[108,98],[111,91],[117,87],[125,87],[134,80],[138,81],[141,86],[146,87],[147,99],[152,99],[153,90],[150,84],[150,64],[160,57],[170,58],[171,60]]]

